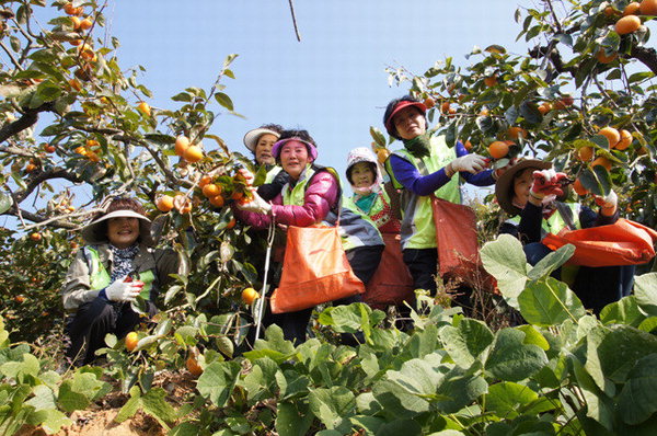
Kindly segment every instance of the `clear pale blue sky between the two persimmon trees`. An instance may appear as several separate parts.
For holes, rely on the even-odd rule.
[[[223,83],[246,118],[220,116],[211,133],[247,152],[242,137],[253,127],[302,127],[319,145],[318,162],[342,174],[348,150],[369,147],[369,127],[382,129],[385,104],[406,91],[388,85],[387,66],[424,72],[447,56],[465,66],[464,55],[489,44],[525,51],[514,43],[516,8],[503,0],[297,0],[300,43],[286,0],[112,0],[105,15],[122,44],[120,65],[147,69],[140,82],[153,91],[153,106],[176,107],[170,97],[186,87],[209,89],[226,56],[238,54],[237,80]]]

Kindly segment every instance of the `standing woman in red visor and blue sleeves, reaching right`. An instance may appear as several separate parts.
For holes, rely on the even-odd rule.
[[[383,124],[388,134],[403,142],[389,158],[389,172],[402,188],[402,250],[415,288],[436,292],[438,252],[431,211],[434,194],[452,203],[461,203],[461,180],[476,185],[495,184],[494,172],[486,159],[469,154],[461,142],[449,147],[443,136],[427,131],[427,107],[412,96],[388,104]]]

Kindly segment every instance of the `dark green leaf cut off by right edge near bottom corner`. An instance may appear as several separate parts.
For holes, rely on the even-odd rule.
[[[619,408],[627,424],[641,424],[657,412],[657,354],[641,358],[627,374]]]

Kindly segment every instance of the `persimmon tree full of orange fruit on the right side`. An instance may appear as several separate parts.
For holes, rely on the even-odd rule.
[[[451,144],[498,158],[506,142],[497,165],[518,154],[551,160],[581,194],[613,187],[625,216],[655,227],[657,53],[646,26],[655,14],[653,1],[541,1],[515,14],[525,55],[489,45],[466,67],[452,58],[424,73],[391,67],[390,82],[429,99]]]

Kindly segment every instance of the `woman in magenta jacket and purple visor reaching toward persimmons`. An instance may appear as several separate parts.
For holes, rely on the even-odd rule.
[[[322,222],[335,225],[341,197],[339,177],[335,170],[314,163],[318,149],[308,131],[284,130],[274,145],[272,154],[289,175],[289,182],[270,203],[254,193],[252,202],[237,205],[237,217],[260,229],[267,228],[272,220],[298,227]],[[339,209],[339,233],[351,269],[367,284],[381,260],[381,234],[370,221],[344,207]],[[360,301],[360,296],[347,297],[334,303],[348,305],[356,301]],[[278,324],[287,340],[302,343],[306,341],[311,313],[312,308],[269,314],[265,323]],[[343,336],[343,342],[350,341]]]

